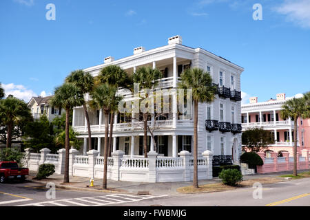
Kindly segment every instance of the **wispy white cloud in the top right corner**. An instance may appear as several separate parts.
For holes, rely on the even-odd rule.
[[[310,28],[309,0],[286,0],[274,10],[280,14],[285,14],[288,21],[292,21],[302,28]]]

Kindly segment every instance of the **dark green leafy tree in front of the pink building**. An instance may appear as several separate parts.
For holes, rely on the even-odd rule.
[[[274,144],[270,131],[255,128],[242,132],[242,145],[245,145],[249,151],[264,151],[270,144]]]

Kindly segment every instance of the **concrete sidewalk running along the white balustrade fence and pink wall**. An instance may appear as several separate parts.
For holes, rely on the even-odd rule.
[[[298,170],[298,173],[308,170]],[[266,173],[266,174],[259,174],[256,173],[254,175],[245,175],[243,176],[243,180],[248,179],[257,179],[262,177],[278,177],[279,175],[284,174],[291,174],[292,171],[285,171],[279,173]],[[28,176],[28,181],[34,181],[38,183],[46,184],[48,182],[53,182],[56,187],[59,188],[68,188],[73,190],[94,190],[103,192],[127,192],[133,194],[150,194],[150,195],[177,195],[180,192],[176,192],[177,188],[183,186],[190,186],[192,185],[192,181],[187,182],[168,182],[168,183],[146,183],[146,182],[133,182],[133,181],[114,181],[114,180],[107,180],[107,188],[108,190],[103,190],[102,188],[102,179],[94,179],[94,187],[90,186],[90,178],[87,177],[72,177],[70,176],[70,183],[63,184],[63,175],[53,174],[47,179],[35,180],[32,179],[36,173],[30,172]],[[281,178],[282,179],[282,178]],[[218,177],[214,179],[207,179],[207,180],[199,180],[200,185],[204,184],[214,184],[220,182]]]

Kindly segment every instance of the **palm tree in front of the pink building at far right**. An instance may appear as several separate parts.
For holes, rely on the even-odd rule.
[[[294,146],[293,146],[293,157],[294,157],[294,166],[293,166],[293,175],[297,176],[297,133],[298,118],[305,118],[307,115],[307,106],[305,98],[291,98],[287,100],[282,106],[280,111],[280,116],[283,119],[291,118],[294,121]]]

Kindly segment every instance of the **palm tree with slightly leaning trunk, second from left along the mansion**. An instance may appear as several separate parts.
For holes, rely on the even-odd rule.
[[[67,83],[73,83],[78,87],[82,94],[85,95],[90,93],[94,87],[94,77],[89,74],[85,73],[82,69],[75,70],[70,73],[67,78],[65,78]],[[83,103],[83,109],[85,113],[86,123],[87,123],[87,130],[88,130],[88,146],[92,149],[92,133],[90,131],[90,117],[88,115],[86,102]]]

